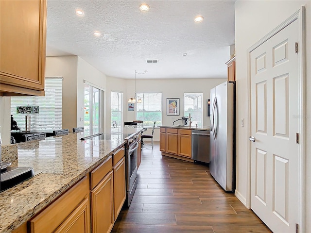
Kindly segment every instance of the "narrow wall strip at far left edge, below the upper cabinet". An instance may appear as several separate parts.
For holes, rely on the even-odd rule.
[[[0,110],[2,145],[8,145],[11,136],[11,97],[0,97]]]

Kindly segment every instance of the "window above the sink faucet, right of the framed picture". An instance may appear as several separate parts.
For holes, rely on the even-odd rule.
[[[184,113],[185,116],[191,114],[191,126],[198,125],[202,127],[203,125],[203,93],[184,93]]]

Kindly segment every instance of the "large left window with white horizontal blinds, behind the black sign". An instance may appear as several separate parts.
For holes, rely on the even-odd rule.
[[[16,114],[16,107],[39,106],[39,114],[30,114],[32,131],[62,129],[63,78],[45,78],[45,96],[11,97],[11,115],[21,130],[25,130],[25,114]]]

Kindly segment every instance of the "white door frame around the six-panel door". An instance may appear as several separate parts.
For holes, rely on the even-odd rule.
[[[299,10],[297,10],[291,17],[287,18],[283,21],[279,26],[277,26],[270,33],[266,34],[262,37],[257,43],[251,46],[247,50],[247,131],[249,136],[251,136],[251,52],[255,50],[257,47],[262,45],[276,33],[280,32],[282,29],[290,25],[295,20],[298,20],[298,82],[299,82],[299,129],[300,132],[300,142],[299,142],[299,153],[298,153],[298,166],[299,166],[299,181],[298,181],[298,192],[299,192],[299,232],[304,232],[305,229],[305,194],[303,190],[306,186],[306,177],[305,177],[305,159],[306,159],[306,65],[305,65],[305,50],[306,50],[306,13],[305,7],[302,6]],[[251,209],[251,142],[247,143],[247,196],[246,196],[246,207]]]

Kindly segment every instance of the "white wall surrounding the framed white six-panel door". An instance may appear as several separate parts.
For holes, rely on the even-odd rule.
[[[248,161],[248,110],[247,110],[247,49],[271,32],[288,17],[293,15],[300,7],[306,8],[307,24],[307,76],[306,76],[306,129],[311,129],[311,1],[304,0],[270,0],[270,1],[248,1],[238,0],[235,3],[235,49],[236,49],[236,75],[237,75],[237,191],[239,198],[245,203],[249,191],[247,177]],[[245,118],[245,127],[241,127],[240,120]],[[307,130],[306,135],[306,229],[304,232],[311,232],[311,131]],[[244,199],[244,200],[243,200]],[[308,218],[308,219],[307,219]]]

